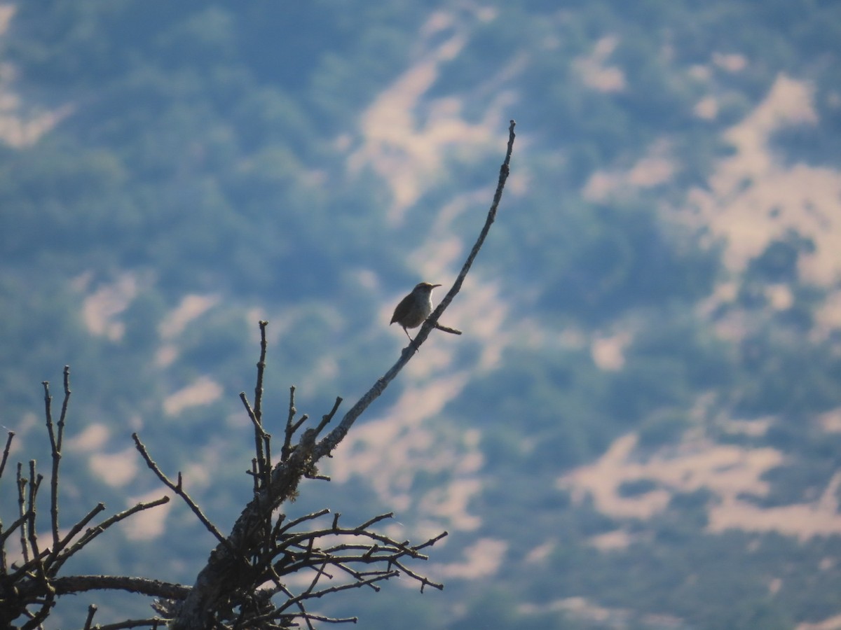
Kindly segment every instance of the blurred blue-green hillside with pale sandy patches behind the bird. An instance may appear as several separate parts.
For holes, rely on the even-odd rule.
[[[450,535],[319,601],[357,627],[841,628],[841,3],[19,0],[0,4],[0,395],[63,522],[163,494],[134,431],[227,532],[288,387],[346,411],[421,352],[290,516]],[[13,478],[0,486],[14,514]],[[11,512],[9,512],[9,510]],[[13,520],[13,519],[12,519]],[[78,573],[192,584],[172,501]],[[409,583],[406,583],[409,582]],[[77,596],[50,627],[148,616]]]

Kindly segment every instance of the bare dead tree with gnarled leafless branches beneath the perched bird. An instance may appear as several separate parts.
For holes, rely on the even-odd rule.
[[[290,389],[288,419],[283,433],[283,445],[275,459],[272,453],[272,436],[263,424],[262,394],[263,373],[266,367],[266,322],[260,323],[260,360],[257,362],[257,384],[253,404],[245,392],[240,397],[254,429],[254,458],[250,474],[253,477],[253,496],[227,536],[220,532],[204,514],[196,501],[184,489],[181,473],[172,480],[161,470],[149,454],[137,433],[133,434],[135,446],[146,465],[161,483],[179,496],[193,511],[204,527],[218,540],[210,553],[207,564],[199,571],[192,586],[172,584],[159,580],[114,575],[61,575],[61,568],[68,559],[89,546],[108,528],[135,515],[169,501],[162,496],[156,501],[138,503],[92,525],[104,511],[102,503],[93,507],[66,531],[59,518],[59,472],[61,447],[70,402],[70,368],[64,370],[64,400],[61,415],[53,423],[50,386],[44,382],[45,419],[50,439],[52,466],[50,470],[50,538],[38,535],[38,496],[44,480],[34,460],[24,470],[17,465],[15,487],[18,510],[8,527],[0,521],[0,627],[40,628],[61,596],[84,591],[130,591],[154,597],[152,607],[155,617],[128,619],[124,622],[94,626],[96,606],[88,609],[84,627],[117,630],[130,627],[172,627],[177,630],[220,630],[233,628],[283,628],[302,624],[314,628],[313,622],[356,622],[356,617],[331,618],[316,615],[307,609],[310,601],[336,591],[353,588],[379,589],[379,582],[397,575],[416,580],[421,591],[426,586],[442,589],[443,585],[411,569],[411,560],[426,559],[422,553],[447,535],[443,532],[423,543],[395,540],[378,533],[374,526],[392,517],[380,514],[366,522],[346,525],[340,514],[320,510],[304,517],[288,519],[281,508],[293,501],[302,479],[326,480],[320,475],[320,459],[329,457],[341,443],[357,418],[380,394],[383,393],[399,371],[411,360],[417,349],[426,341],[433,328],[449,333],[459,333],[438,323],[442,312],[452,302],[467,276],[473,260],[494,223],[505,181],[508,177],[511,151],[514,144],[514,126],[509,127],[508,147],[500,167],[494,200],[479,238],[473,245],[458,278],[431,316],[421,326],[415,340],[403,350],[399,360],[379,378],[368,392],[342,417],[341,422],[324,437],[320,437],[336,417],[341,398],[336,398],[330,412],[314,426],[308,425],[306,415],[297,417],[294,387]],[[8,463],[14,433],[9,432],[2,459],[0,459],[0,485]],[[43,520],[43,518],[42,518]],[[17,543],[18,551],[13,551]],[[15,557],[11,560],[10,557]],[[307,585],[295,590],[290,576],[307,575]]]

